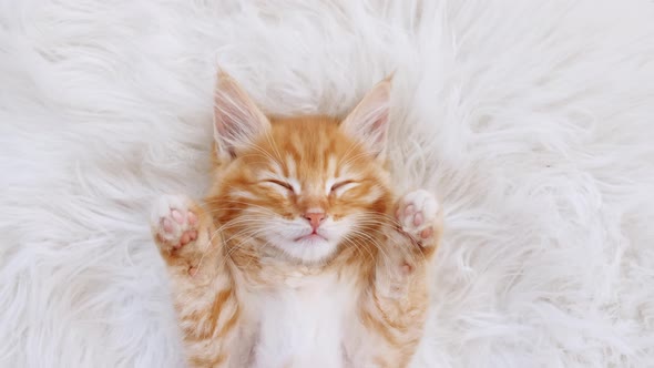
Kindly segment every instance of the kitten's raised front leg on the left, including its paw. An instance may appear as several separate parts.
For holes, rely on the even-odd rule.
[[[165,195],[155,202],[151,227],[170,274],[188,364],[228,366],[239,307],[211,215],[185,195]]]

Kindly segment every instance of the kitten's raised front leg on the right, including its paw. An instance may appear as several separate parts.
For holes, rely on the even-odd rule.
[[[442,229],[440,206],[427,191],[396,205],[397,226],[381,245],[361,320],[368,351],[360,367],[406,367],[422,337],[429,306],[429,270]]]

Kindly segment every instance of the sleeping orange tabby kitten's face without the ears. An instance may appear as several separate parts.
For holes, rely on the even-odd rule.
[[[380,161],[327,119],[274,121],[229,165],[222,191],[233,222],[304,262],[369,237],[390,196]]]

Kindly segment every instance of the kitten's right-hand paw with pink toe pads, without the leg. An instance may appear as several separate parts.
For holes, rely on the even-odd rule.
[[[406,194],[399,202],[396,218],[402,232],[421,246],[433,244],[440,206],[433,194],[418,190]]]

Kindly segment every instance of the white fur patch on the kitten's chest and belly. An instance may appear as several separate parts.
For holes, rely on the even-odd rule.
[[[259,311],[255,367],[344,367],[343,341],[351,328],[352,289],[335,275],[288,278],[254,298]]]

